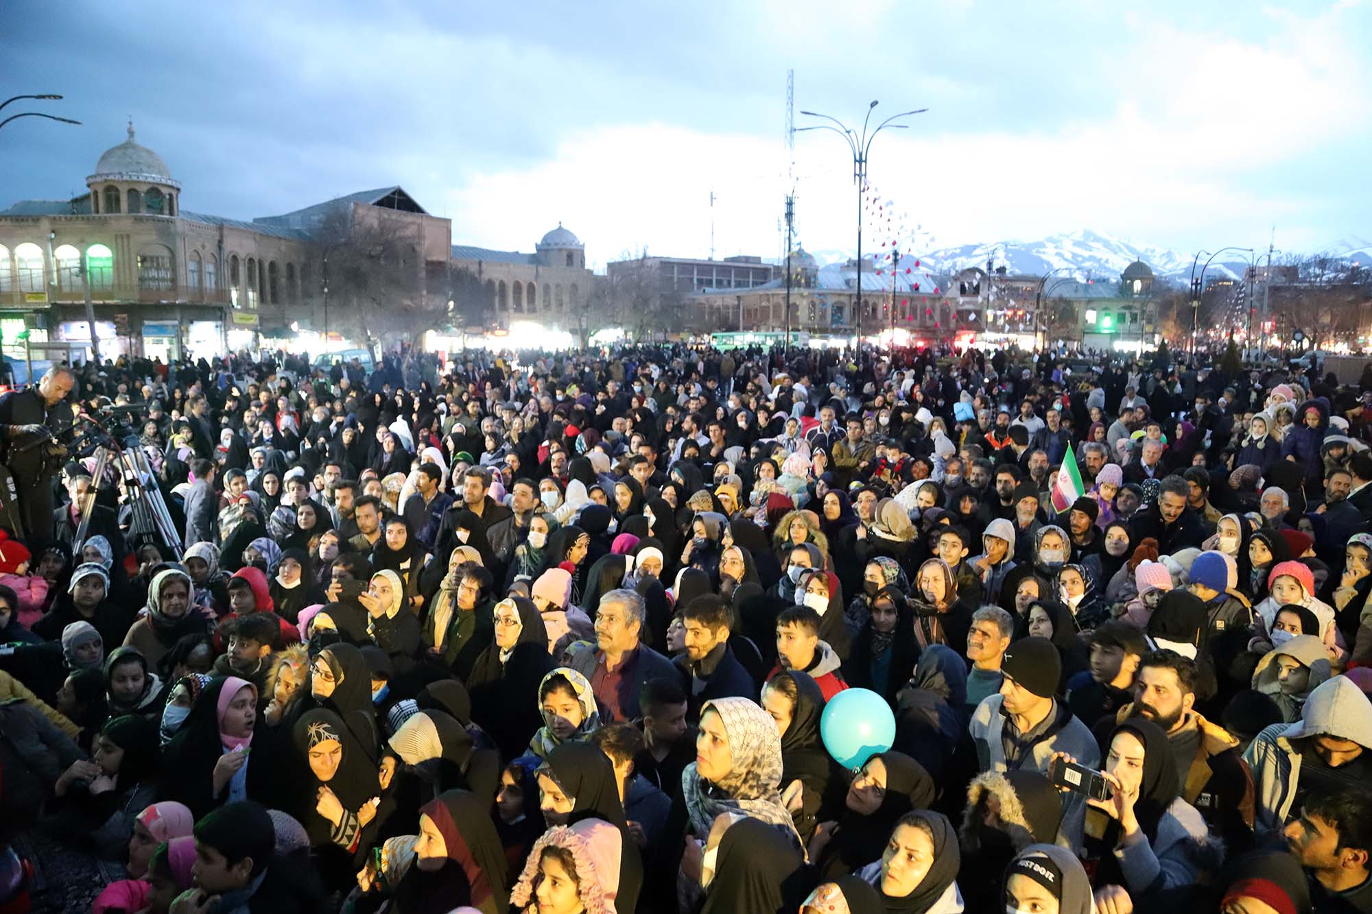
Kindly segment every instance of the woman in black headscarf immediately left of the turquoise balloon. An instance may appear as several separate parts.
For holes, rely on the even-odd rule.
[[[763,686],[761,705],[781,734],[782,792],[801,790],[801,808],[792,812],[796,832],[809,841],[820,806],[831,799],[830,781],[838,782],[836,762],[819,740],[825,696],[808,674],[783,670]]]

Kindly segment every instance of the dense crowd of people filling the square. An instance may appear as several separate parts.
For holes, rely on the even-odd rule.
[[[122,867],[97,913],[1372,911],[1372,366],[402,349],[36,390],[130,417],[155,480],[70,441],[0,530],[0,910],[41,834]],[[896,722],[856,770],[848,689]]]

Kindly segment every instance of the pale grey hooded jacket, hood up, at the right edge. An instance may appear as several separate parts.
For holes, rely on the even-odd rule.
[[[1243,760],[1253,769],[1253,829],[1259,843],[1281,832],[1295,800],[1301,749],[1292,740],[1313,736],[1351,740],[1372,751],[1372,701],[1347,677],[1334,677],[1310,693],[1299,720],[1273,723],[1253,740]]]

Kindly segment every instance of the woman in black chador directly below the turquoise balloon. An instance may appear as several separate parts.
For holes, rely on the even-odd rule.
[[[809,855],[825,878],[852,873],[877,856],[896,819],[933,803],[936,786],[922,764],[903,752],[867,759],[853,778],[837,822],[825,822],[809,841]]]

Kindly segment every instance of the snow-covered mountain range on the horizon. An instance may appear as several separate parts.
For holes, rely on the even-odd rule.
[[[1323,248],[1347,259],[1372,261],[1372,242],[1350,235]],[[844,250],[811,251],[820,263],[849,259],[853,253]],[[866,255],[867,251],[863,251]],[[962,244],[926,251],[919,255],[926,268],[938,273],[954,273],[969,266],[1004,266],[1008,273],[1043,276],[1048,270],[1066,269],[1078,277],[1117,279],[1124,268],[1143,261],[1161,277],[1185,284],[1191,276],[1195,253],[1174,251],[1154,244],[1139,244],[1091,229],[1061,232],[1039,240],[1000,240]],[[1202,258],[1203,262],[1205,258]],[[1210,273],[1218,270],[1232,279],[1243,276],[1249,262],[1239,253],[1227,253],[1210,263]]]

